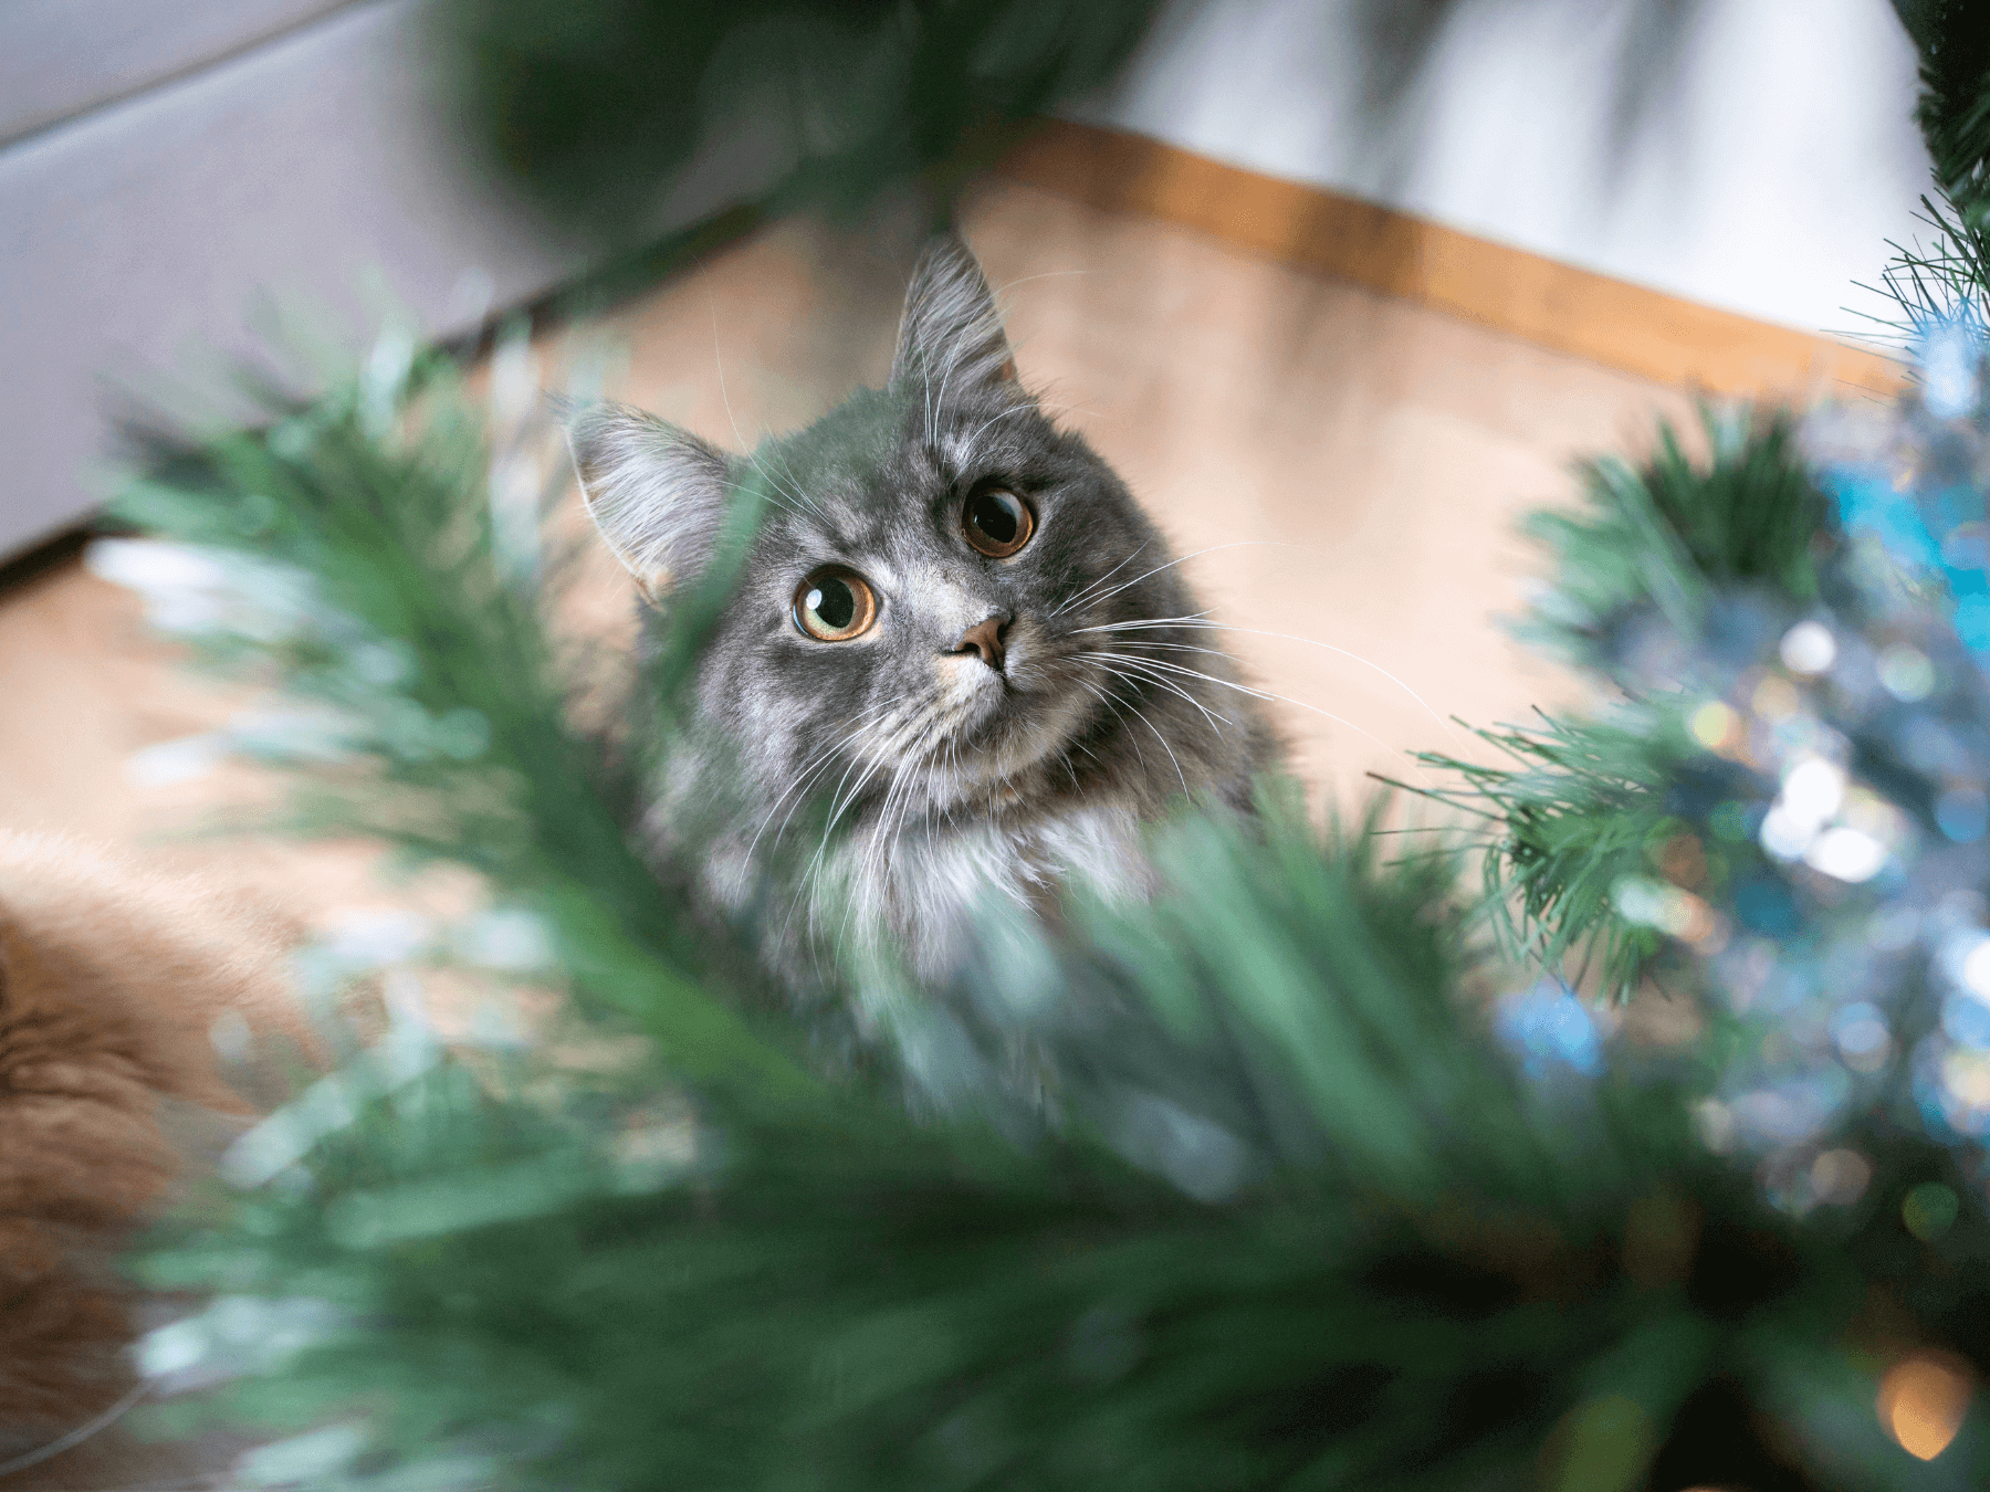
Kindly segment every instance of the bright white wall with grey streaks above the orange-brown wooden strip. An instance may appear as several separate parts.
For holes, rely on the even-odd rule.
[[[1887,0],[1459,0],[1391,78],[1419,14],[1180,0],[1069,113],[1803,330],[1926,237]]]

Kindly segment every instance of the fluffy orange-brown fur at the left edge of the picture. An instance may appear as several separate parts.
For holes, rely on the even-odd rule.
[[[161,1106],[241,1112],[209,1032],[295,1026],[293,941],[201,883],[0,832],[0,1464],[129,1389],[115,1261],[177,1170]]]

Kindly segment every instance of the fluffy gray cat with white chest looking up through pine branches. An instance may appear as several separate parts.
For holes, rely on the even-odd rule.
[[[840,947],[943,983],[989,911],[1045,911],[1071,877],[1140,895],[1142,830],[1184,800],[1252,812],[1280,756],[1166,541],[1017,382],[951,235],[919,261],[884,390],[748,458],[615,404],[569,440],[653,627],[764,493],[653,830],[732,794],[704,891],[758,909],[790,979]]]

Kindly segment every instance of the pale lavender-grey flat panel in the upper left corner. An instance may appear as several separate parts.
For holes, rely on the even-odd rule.
[[[376,322],[378,284],[380,302],[448,336],[597,261],[464,167],[430,0],[201,0],[201,26],[163,28],[133,10],[165,0],[10,4],[0,58],[40,48],[50,74],[0,149],[0,561],[96,505],[121,394],[267,356],[265,302],[354,334]],[[64,32],[50,4],[103,28],[101,44]],[[273,40],[243,30],[285,16],[314,20]],[[657,231],[750,197],[786,149],[768,131],[718,141]]]

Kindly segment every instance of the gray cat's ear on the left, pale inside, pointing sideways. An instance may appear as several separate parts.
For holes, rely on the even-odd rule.
[[[661,601],[710,563],[726,517],[726,458],[689,430],[627,404],[565,418],[587,515],[643,595]]]

